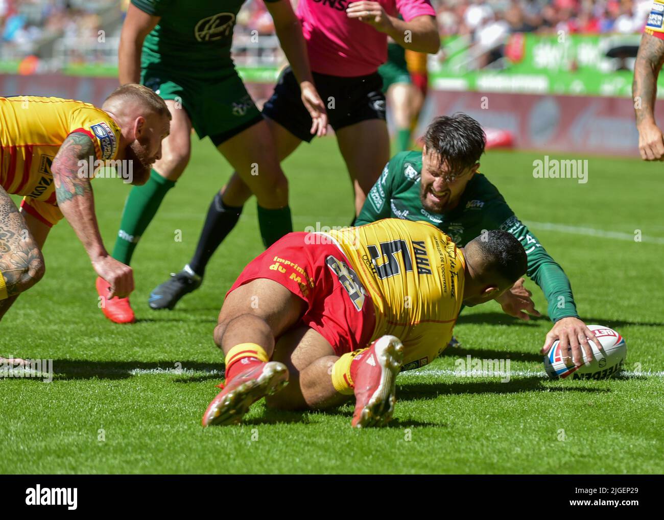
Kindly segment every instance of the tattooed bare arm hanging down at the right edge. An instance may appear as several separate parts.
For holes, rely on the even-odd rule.
[[[634,64],[631,92],[639,131],[639,153],[646,161],[664,158],[664,136],[655,123],[657,76],[664,64],[664,41],[645,33]]]

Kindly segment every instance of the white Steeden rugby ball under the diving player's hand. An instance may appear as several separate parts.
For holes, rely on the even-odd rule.
[[[595,333],[602,344],[602,349],[598,349],[597,345],[590,341],[593,360],[588,363],[584,353],[585,365],[580,367],[575,367],[573,364],[565,365],[560,355],[560,343],[556,339],[544,356],[544,369],[546,369],[548,377],[552,379],[606,379],[622,370],[627,357],[627,345],[625,345],[623,337],[614,329],[604,327],[604,325],[588,325],[588,329]],[[571,355],[572,348],[568,347],[567,350]]]

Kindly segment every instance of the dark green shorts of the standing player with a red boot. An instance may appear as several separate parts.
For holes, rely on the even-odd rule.
[[[234,70],[218,79],[199,80],[146,68],[141,72],[141,84],[164,100],[181,102],[199,137],[209,136],[215,146],[263,120]]]

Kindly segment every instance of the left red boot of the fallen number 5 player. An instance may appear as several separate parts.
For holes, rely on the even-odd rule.
[[[208,404],[201,424],[222,426],[237,424],[249,411],[249,406],[266,395],[274,394],[288,384],[288,369],[284,363],[270,361],[249,367],[232,378]]]

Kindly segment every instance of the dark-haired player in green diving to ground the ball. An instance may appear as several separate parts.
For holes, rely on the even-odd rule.
[[[575,365],[583,364],[582,349],[592,360],[589,340],[600,347],[594,333],[576,311],[570,281],[564,271],[544,250],[537,237],[516,217],[498,189],[479,173],[479,157],[486,143],[477,121],[465,114],[436,118],[424,137],[424,149],[397,153],[387,163],[380,178],[369,191],[356,225],[381,218],[424,220],[448,234],[458,246],[491,229],[513,234],[526,250],[527,276],[540,286],[548,315],[554,322],[546,334],[542,353],[556,339],[561,351],[572,347]],[[428,149],[448,153],[428,153]],[[507,314],[529,319],[539,316],[532,293],[523,278],[496,301]]]

